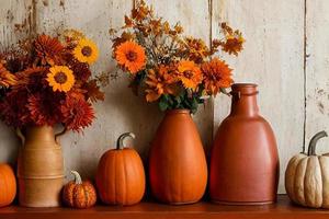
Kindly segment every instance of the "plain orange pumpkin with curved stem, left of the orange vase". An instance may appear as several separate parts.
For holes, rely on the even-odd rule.
[[[140,157],[132,148],[124,148],[126,137],[118,137],[116,149],[106,151],[99,163],[97,187],[103,203],[110,205],[134,205],[140,201],[145,192],[145,172]]]

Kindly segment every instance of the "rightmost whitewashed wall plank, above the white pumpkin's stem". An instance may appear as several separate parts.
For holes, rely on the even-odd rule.
[[[306,1],[306,147],[320,130],[329,132],[329,2]],[[320,140],[318,154],[329,151]]]

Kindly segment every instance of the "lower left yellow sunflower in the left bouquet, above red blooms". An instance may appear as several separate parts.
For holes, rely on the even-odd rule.
[[[54,66],[49,68],[46,79],[53,91],[68,92],[75,84],[73,72],[66,66]]]

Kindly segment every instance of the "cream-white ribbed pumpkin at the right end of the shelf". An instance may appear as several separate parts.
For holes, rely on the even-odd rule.
[[[326,131],[315,135],[308,152],[293,157],[285,171],[285,189],[296,204],[311,208],[329,208],[329,154],[317,155],[316,145]]]

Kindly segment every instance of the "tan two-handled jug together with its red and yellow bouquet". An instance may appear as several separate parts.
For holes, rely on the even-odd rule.
[[[95,44],[77,31],[41,34],[0,53],[0,116],[16,128],[24,147],[18,160],[20,204],[59,205],[63,154],[53,126],[82,131],[102,101],[100,80],[91,77]]]

